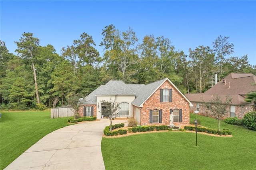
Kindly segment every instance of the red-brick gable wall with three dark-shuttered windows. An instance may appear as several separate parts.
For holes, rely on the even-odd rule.
[[[160,89],[172,89],[172,102],[160,102]],[[149,123],[149,112],[154,109],[162,109],[162,123]],[[182,109],[182,122],[174,122],[174,125],[189,125],[189,103],[176,89],[165,81],[161,87],[143,104],[140,110],[141,125],[170,125],[170,109]]]

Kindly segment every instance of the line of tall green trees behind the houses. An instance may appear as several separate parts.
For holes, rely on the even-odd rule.
[[[16,53],[0,40],[0,109],[46,109],[68,104],[68,97],[85,97],[109,80],[147,84],[168,77],[182,93],[203,93],[229,73],[253,73],[248,56],[230,57],[234,44],[218,36],[212,47],[200,45],[189,55],[176,50],[164,36],[144,36],[134,30],[109,25],[102,30],[103,56],[92,36],[78,40],[56,53],[52,45],[41,46],[33,33],[24,33]]]

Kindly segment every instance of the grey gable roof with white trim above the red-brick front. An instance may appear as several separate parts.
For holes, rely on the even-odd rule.
[[[145,87],[140,91],[140,93],[137,95],[136,99],[132,102],[132,105],[135,105],[137,107],[143,107],[143,104],[148,100],[148,98],[155,93],[155,91],[165,82],[169,81],[171,85],[188,101],[190,106],[193,106],[192,103],[180,92],[180,90],[170,81],[170,79],[165,78],[159,81],[156,81],[154,83],[150,83],[148,85],[145,85]]]

